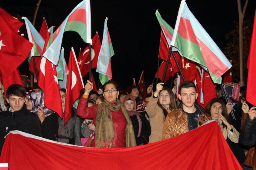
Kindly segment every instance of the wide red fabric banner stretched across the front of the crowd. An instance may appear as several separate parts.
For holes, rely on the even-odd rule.
[[[242,170],[215,121],[155,143],[110,149],[60,144],[24,132],[12,131],[6,137],[0,162],[8,162],[10,170]]]

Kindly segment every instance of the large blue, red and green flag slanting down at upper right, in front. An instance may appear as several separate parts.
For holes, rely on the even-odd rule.
[[[221,83],[221,75],[231,68],[231,63],[210,38],[185,0],[181,1],[171,45],[184,57],[207,67],[214,83]]]

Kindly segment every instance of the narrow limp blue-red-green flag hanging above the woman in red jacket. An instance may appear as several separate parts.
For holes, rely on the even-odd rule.
[[[103,38],[101,44],[101,50],[99,51],[98,63],[96,71],[99,73],[99,80],[101,84],[105,84],[108,80],[112,79],[111,71],[111,60],[110,58],[114,56],[114,50],[110,35],[108,32],[108,17],[106,17],[104,22]]]

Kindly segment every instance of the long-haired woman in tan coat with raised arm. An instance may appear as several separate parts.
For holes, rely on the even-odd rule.
[[[177,108],[175,97],[171,89],[163,87],[164,83],[158,83],[153,95],[149,98],[146,112],[149,116],[151,135],[149,143],[162,140],[163,123],[165,117],[173,109]]]

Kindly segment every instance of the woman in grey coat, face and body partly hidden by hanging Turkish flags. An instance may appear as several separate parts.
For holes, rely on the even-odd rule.
[[[60,89],[62,111],[64,113],[66,103],[66,89]],[[81,120],[76,116],[76,110],[72,107],[71,117],[64,126],[64,115],[61,119],[58,117],[59,130],[58,130],[58,142],[75,144],[81,146],[80,139],[80,124]]]

